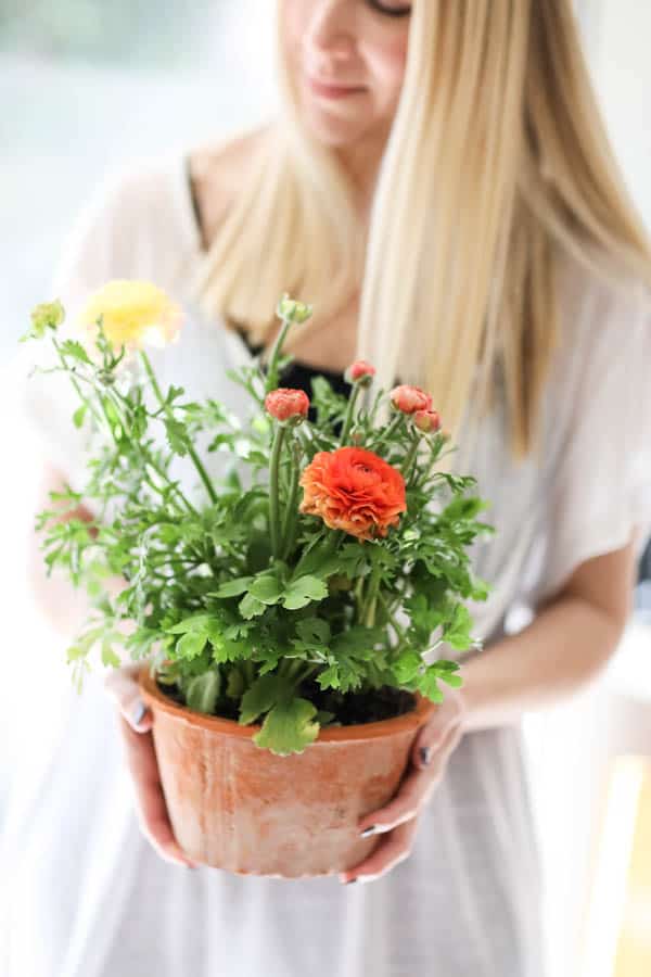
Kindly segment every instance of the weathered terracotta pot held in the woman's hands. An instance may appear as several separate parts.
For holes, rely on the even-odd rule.
[[[278,757],[253,743],[259,724],[194,712],[140,672],[152,711],[161,781],[176,838],[193,860],[238,875],[333,875],[352,868],[380,837],[358,820],[394,796],[410,748],[437,708],[320,729],[303,753]]]

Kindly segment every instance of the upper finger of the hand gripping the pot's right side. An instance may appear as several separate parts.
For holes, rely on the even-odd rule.
[[[443,744],[433,756],[430,765],[424,770],[410,765],[392,800],[383,808],[365,814],[360,819],[358,825],[360,834],[370,827],[374,828],[373,834],[384,834],[414,819],[439,784],[448,759],[460,737],[461,731],[459,727],[450,726]]]

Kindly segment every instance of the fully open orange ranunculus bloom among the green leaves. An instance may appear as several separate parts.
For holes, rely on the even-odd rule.
[[[405,480],[382,458],[359,447],[318,452],[301,475],[301,511],[358,540],[386,536],[407,509]]]

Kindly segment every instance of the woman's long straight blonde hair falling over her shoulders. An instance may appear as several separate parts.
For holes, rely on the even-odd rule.
[[[359,291],[358,354],[378,383],[426,388],[456,442],[501,373],[521,460],[540,446],[564,259],[651,286],[571,0],[413,4],[368,239],[349,178],[303,124],[281,16],[277,46],[279,125],[215,233],[199,301],[264,341],[283,291],[314,305],[310,329]]]

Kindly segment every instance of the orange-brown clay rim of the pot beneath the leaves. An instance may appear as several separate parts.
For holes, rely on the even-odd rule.
[[[251,739],[261,728],[261,723],[241,726],[237,720],[219,715],[206,715],[206,713],[195,712],[187,706],[179,706],[159,690],[155,678],[150,673],[149,663],[142,665],[138,675],[138,683],[146,706],[163,710],[175,716],[176,720],[186,722],[189,725],[201,726],[204,729],[212,729],[215,733],[224,733],[229,736],[239,736],[243,739]],[[320,728],[317,738],[311,745],[314,746],[315,743],[342,743],[352,739],[378,739],[383,736],[395,736],[397,733],[403,733],[408,728],[416,729],[431,718],[437,706],[419,691],[414,691],[413,695],[416,696],[416,708],[409,712],[394,715],[391,719],[378,720],[373,723]]]

